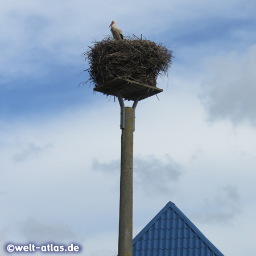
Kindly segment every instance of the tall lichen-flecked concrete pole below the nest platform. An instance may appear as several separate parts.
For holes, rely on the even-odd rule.
[[[118,256],[133,255],[133,131],[134,109],[125,107],[121,138]]]

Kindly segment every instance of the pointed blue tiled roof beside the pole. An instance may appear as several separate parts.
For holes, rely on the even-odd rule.
[[[224,256],[172,202],[133,239],[133,256]]]

